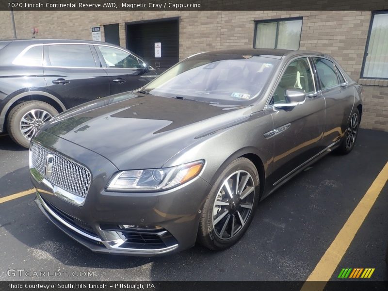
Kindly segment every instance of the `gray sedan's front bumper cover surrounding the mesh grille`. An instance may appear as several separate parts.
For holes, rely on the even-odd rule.
[[[39,140],[40,139],[40,140]],[[56,187],[31,180],[40,210],[70,237],[99,253],[155,256],[194,245],[200,213],[210,184],[200,177],[155,193],[107,192],[105,186],[118,169],[84,147],[41,132],[39,142],[52,140],[50,150],[87,167],[92,176],[82,204],[66,199]],[[127,229],[129,228],[129,229]]]

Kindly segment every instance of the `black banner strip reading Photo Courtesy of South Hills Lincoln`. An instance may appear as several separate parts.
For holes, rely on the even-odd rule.
[[[299,291],[303,281],[1,281],[0,291]],[[307,282],[322,290],[322,282]],[[321,289],[318,289],[321,287]],[[388,282],[368,279],[330,281],[325,291],[387,290]]]

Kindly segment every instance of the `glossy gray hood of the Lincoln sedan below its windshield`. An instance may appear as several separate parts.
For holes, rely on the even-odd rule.
[[[42,130],[104,156],[120,170],[153,168],[250,112],[249,107],[125,93],[66,111]]]

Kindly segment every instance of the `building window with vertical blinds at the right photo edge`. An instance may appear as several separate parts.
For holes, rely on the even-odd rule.
[[[362,78],[388,78],[388,11],[372,14]]]

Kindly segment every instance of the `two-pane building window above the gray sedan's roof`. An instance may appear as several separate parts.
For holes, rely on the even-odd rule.
[[[257,21],[255,49],[299,49],[302,18]]]

